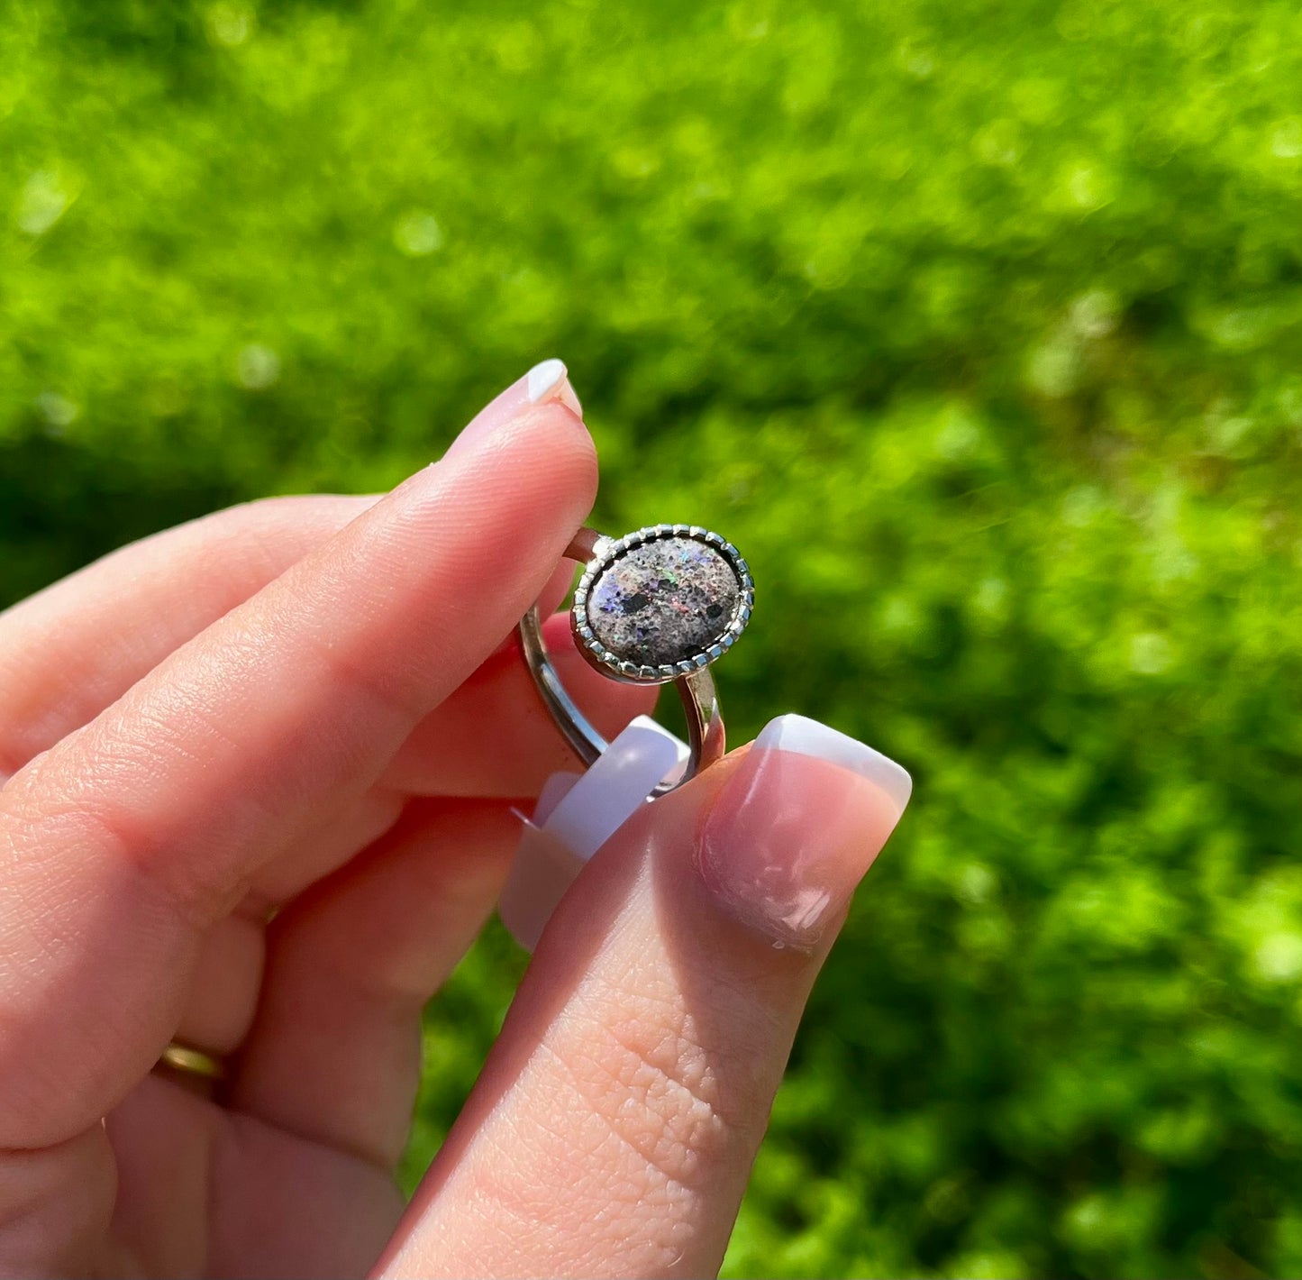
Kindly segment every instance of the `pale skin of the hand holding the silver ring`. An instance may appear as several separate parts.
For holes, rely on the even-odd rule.
[[[380,499],[234,508],[0,615],[0,1272],[717,1270],[832,940],[775,948],[694,870],[745,749],[602,850],[410,1206],[393,1178],[422,1007],[577,767],[509,639],[596,490],[565,392],[516,384]],[[605,733],[650,708],[547,634]],[[849,811],[797,772],[811,823]],[[172,1039],[229,1090],[154,1070]]]

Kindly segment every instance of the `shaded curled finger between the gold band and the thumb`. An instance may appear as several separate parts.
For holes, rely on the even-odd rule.
[[[392,1168],[411,1128],[421,1010],[483,927],[519,839],[487,801],[414,801],[268,931],[230,1103]]]

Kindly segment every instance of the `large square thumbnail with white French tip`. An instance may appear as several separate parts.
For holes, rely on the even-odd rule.
[[[911,790],[909,773],[871,746],[779,716],[716,797],[698,871],[728,914],[775,945],[812,951],[840,923]]]

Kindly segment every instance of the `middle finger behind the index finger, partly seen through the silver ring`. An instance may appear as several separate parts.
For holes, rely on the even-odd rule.
[[[375,501],[320,495],[233,507],[124,547],[0,613],[0,781]],[[548,578],[544,617],[573,570],[564,561]],[[655,690],[596,675],[562,619],[548,619],[544,632],[561,678],[608,737],[651,710]],[[449,741],[462,750],[447,751]],[[519,797],[575,763],[510,639],[418,727],[388,781],[426,796]]]

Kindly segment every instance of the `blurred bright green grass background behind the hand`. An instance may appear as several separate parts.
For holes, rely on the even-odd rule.
[[[732,1275],[1302,1275],[1302,17],[0,0],[0,596],[559,354],[914,802]],[[408,1176],[522,967],[428,1018]]]

